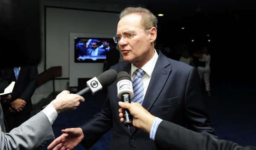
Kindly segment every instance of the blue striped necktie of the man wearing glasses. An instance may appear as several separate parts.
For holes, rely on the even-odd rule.
[[[144,71],[142,69],[135,70],[135,77],[133,78],[133,93],[134,96],[131,98],[132,102],[140,103],[143,102],[144,96],[144,86],[142,77],[144,75]]]

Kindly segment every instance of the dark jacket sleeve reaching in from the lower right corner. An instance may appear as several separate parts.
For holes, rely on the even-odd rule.
[[[209,134],[197,133],[163,120],[156,132],[155,143],[159,150],[256,150],[241,147],[234,142],[218,140]]]

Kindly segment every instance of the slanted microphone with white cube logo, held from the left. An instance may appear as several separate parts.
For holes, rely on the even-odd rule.
[[[107,70],[100,74],[97,78],[94,77],[91,80],[87,81],[87,87],[77,92],[76,94],[82,96],[91,91],[91,94],[94,95],[101,91],[102,87],[107,87],[112,84],[116,80],[117,74],[118,73],[113,69]]]

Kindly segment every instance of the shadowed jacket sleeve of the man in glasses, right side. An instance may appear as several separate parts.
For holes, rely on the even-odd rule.
[[[195,67],[192,67],[185,90],[185,116],[187,128],[199,133],[207,133],[218,138],[207,114],[201,93],[201,80]]]

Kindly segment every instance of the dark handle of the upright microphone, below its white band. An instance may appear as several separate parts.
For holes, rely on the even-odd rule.
[[[122,94],[122,98],[121,100],[125,103],[131,103],[131,97],[129,93],[123,93]],[[130,111],[128,109],[123,109],[123,118],[124,118],[124,122],[123,124],[125,125],[125,127],[130,128],[130,126],[133,125],[133,116],[131,115]]]

